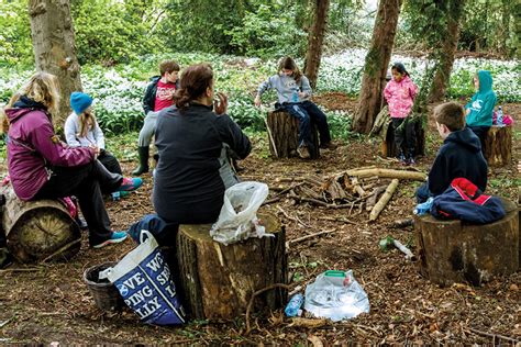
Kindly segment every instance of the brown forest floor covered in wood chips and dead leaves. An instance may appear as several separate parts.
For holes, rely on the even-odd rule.
[[[355,101],[342,93],[318,96],[317,102],[331,110],[353,111]],[[516,116],[514,154],[510,165],[491,168],[488,192],[518,199],[517,160],[521,158],[521,104],[506,104]],[[430,120],[426,154],[417,169],[426,172],[442,141]],[[379,143],[372,138],[336,142],[334,152],[319,160],[268,157],[267,139],[256,138],[253,154],[240,166],[246,179],[270,187],[288,186],[308,175],[329,176],[346,169],[376,165],[397,168],[395,160],[378,155]],[[130,172],[134,163],[123,163]],[[518,179],[517,179],[518,177]],[[152,177],[144,187],[121,201],[108,201],[114,230],[126,228],[153,212]],[[328,269],[354,271],[367,292],[370,312],[341,323],[329,322],[315,328],[291,325],[281,310],[271,317],[254,317],[254,328],[245,334],[245,316],[233,322],[191,322],[181,327],[155,327],[140,323],[129,309],[111,313],[98,310],[82,281],[85,269],[120,259],[135,245],[132,240],[102,249],[90,249],[86,235],[79,254],[66,264],[23,266],[14,264],[0,271],[0,344],[280,344],[344,345],[372,344],[498,344],[521,342],[521,271],[494,278],[483,287],[454,284],[440,288],[420,276],[417,264],[398,250],[383,253],[378,242],[387,235],[402,243],[412,242],[411,227],[393,228],[399,219],[411,217],[414,190],[420,182],[400,181],[398,190],[376,223],[368,212],[328,209],[296,203],[289,197],[263,206],[281,220],[288,240],[325,230],[334,232],[288,249],[291,286],[312,282]],[[276,194],[276,192],[271,193]],[[268,198],[269,199],[269,198]],[[324,219],[326,217],[326,219]],[[352,223],[342,222],[348,219]],[[414,246],[411,246],[414,250]],[[215,300],[220,300],[215,298]],[[501,337],[502,336],[502,337]],[[506,337],[510,338],[507,339]]]

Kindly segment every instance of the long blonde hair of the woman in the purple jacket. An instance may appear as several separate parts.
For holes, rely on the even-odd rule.
[[[25,96],[29,99],[42,103],[52,114],[58,110],[59,104],[58,79],[56,76],[45,71],[36,72],[20,90],[15,101],[18,101],[21,96]]]

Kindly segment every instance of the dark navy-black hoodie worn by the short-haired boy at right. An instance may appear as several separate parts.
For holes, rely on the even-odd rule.
[[[429,190],[439,195],[454,178],[464,177],[485,191],[487,172],[487,161],[483,156],[479,138],[465,127],[452,132],[443,142],[429,172]]]

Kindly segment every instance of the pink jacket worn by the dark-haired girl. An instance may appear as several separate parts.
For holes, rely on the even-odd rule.
[[[399,82],[391,79],[384,89],[384,97],[389,104],[391,117],[403,119],[408,116],[411,113],[417,93],[418,87],[409,76],[403,77]]]

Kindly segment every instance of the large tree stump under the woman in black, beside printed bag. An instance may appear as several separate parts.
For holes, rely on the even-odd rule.
[[[180,225],[177,260],[184,305],[191,318],[233,320],[246,312],[252,294],[274,283],[286,283],[286,234],[271,214],[259,214],[275,237],[248,238],[224,246],[210,237],[211,224]],[[276,310],[287,291],[257,295],[254,307]]]

